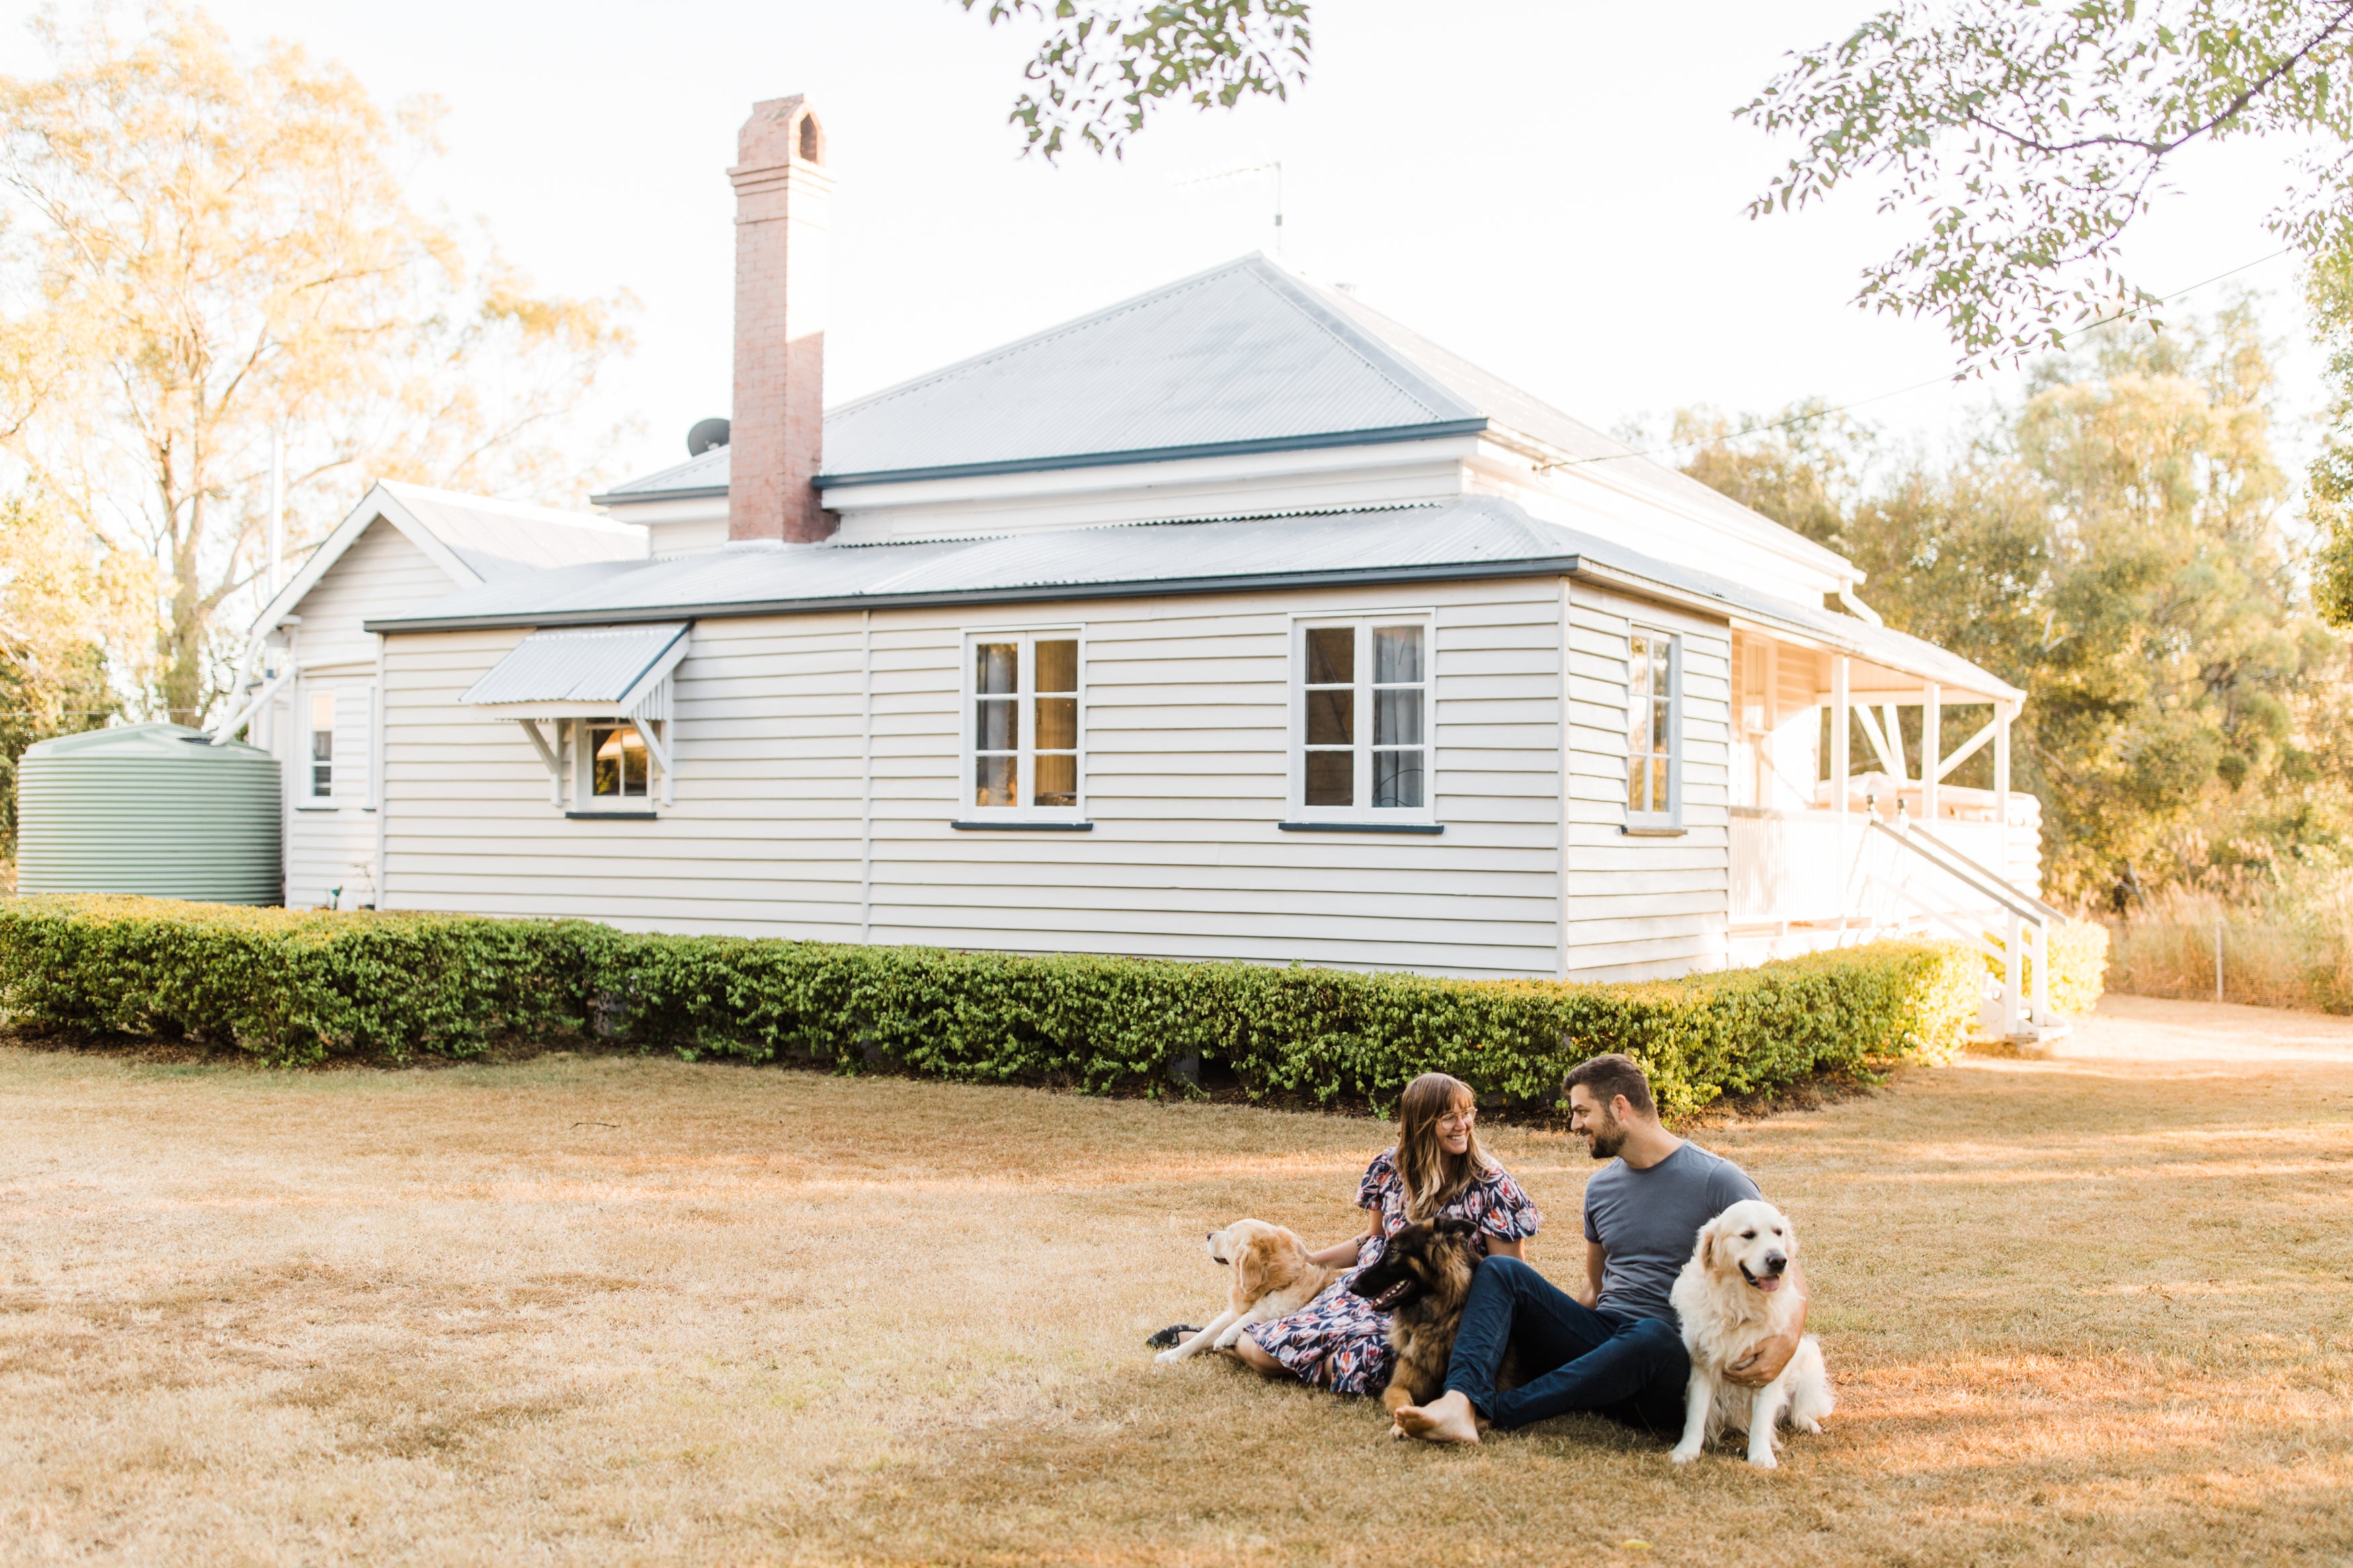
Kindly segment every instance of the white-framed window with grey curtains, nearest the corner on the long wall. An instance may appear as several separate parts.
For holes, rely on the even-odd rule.
[[[1431,820],[1431,623],[1299,621],[1292,670],[1292,813]]]

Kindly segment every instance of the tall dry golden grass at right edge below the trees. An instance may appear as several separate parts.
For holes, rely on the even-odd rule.
[[[2165,889],[2108,922],[2108,990],[2353,1013],[2353,867],[2289,867],[2228,898]],[[2219,938],[2219,943],[2217,943]]]

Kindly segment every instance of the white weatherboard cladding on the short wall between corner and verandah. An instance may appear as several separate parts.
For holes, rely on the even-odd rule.
[[[1682,637],[1680,837],[1626,832],[1626,637],[1635,625]],[[1732,865],[1729,630],[1572,583],[1565,708],[1565,973],[1635,980],[1720,969]]]

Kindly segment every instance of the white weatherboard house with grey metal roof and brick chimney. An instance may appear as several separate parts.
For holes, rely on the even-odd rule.
[[[602,517],[379,487],[268,607],[289,903],[1447,976],[2031,950],[2021,693],[1840,555],[1261,256],[819,414],[821,160],[800,99],[744,127],[727,444]]]

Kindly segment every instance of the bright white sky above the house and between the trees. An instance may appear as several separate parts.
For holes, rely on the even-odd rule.
[[[12,7],[21,16],[28,7]],[[948,0],[214,0],[242,42],[301,40],[379,99],[447,101],[426,205],[482,216],[541,287],[628,289],[640,350],[600,423],[635,421],[607,477],[685,458],[725,414],[734,197],[722,169],[755,99],[807,92],[838,176],[828,402],[889,386],[1249,249],[1273,186],[1179,176],[1282,160],[1285,259],[1617,428],[1711,402],[1849,402],[1953,362],[1934,324],[1849,306],[1899,228],[1864,190],[1751,223],[1779,158],[1732,108],[1784,52],[1873,7],[1598,0],[1322,0],[1292,103],[1162,115],[1125,165],[1016,158],[1005,113],[1031,24]],[[0,68],[38,71],[21,26]],[[2278,155],[2226,148],[2134,242],[2160,294],[2273,249]],[[2315,402],[2292,261],[2240,273],[2294,346],[2285,414]],[[2224,287],[2186,308],[2212,308]],[[1986,386],[1885,397],[1866,418],[1941,440]],[[2287,435],[2282,430],[2282,435]]]

